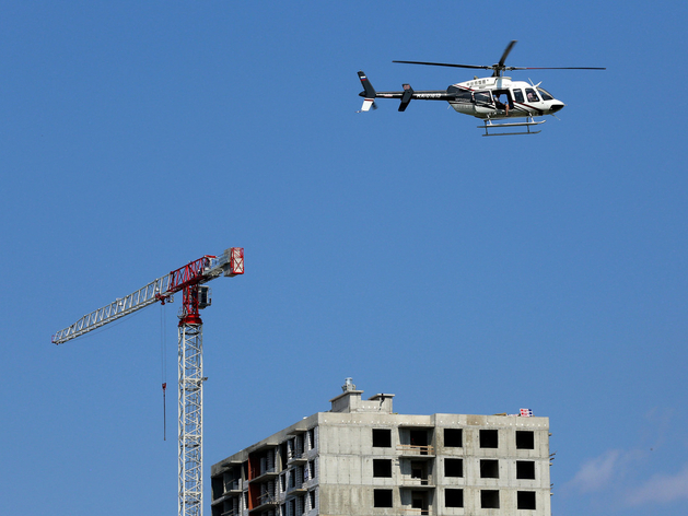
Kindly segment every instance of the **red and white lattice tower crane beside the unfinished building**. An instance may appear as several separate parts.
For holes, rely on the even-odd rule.
[[[215,278],[244,273],[244,249],[231,247],[221,256],[206,255],[168,274],[151,281],[138,291],[117,298],[53,336],[53,342],[61,344],[93,331],[133,312],[160,302],[173,301],[173,294],[182,291],[179,309],[179,516],[202,516],[203,470],[203,339],[199,310],[210,306],[210,289],[207,283]],[[164,388],[164,387],[163,387]]]

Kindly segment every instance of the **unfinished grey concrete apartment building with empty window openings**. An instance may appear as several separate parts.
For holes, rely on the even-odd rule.
[[[347,379],[318,412],[212,466],[212,516],[550,516],[549,419],[405,415]]]

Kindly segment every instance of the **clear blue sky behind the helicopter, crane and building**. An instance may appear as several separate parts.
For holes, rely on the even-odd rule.
[[[178,303],[50,336],[242,246],[203,313],[207,472],[351,376],[399,412],[549,417],[558,516],[685,514],[668,5],[3,2],[1,512],[174,514]],[[511,39],[508,64],[607,70],[513,72],[567,104],[536,137],[442,103],[355,113],[361,69],[443,89],[471,71],[392,60],[490,64]]]

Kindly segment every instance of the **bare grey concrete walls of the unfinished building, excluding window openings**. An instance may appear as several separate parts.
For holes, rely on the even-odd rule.
[[[287,505],[294,496],[305,495],[305,516],[420,516],[420,511],[413,511],[411,504],[413,497],[423,496],[428,503],[428,514],[435,516],[551,514],[547,418],[394,414],[386,411],[392,407],[390,398],[361,401],[360,391],[340,395],[333,400],[333,407],[341,411],[313,414],[213,465],[211,476],[215,483],[223,472],[246,461],[250,454],[279,446],[294,433],[316,429],[316,447],[307,453],[307,460],[313,461],[315,470],[303,483],[305,494],[304,491],[279,492],[280,504],[287,502]],[[373,446],[374,429],[390,431],[388,447]],[[446,445],[444,429],[462,429],[460,446]],[[497,431],[497,448],[480,446],[481,430]],[[516,431],[532,432],[532,449],[516,447]],[[412,436],[418,442],[418,436],[423,435],[423,432],[429,446],[424,448],[425,455],[421,455],[420,448],[411,447]],[[389,477],[373,474],[376,459],[389,461]],[[446,459],[460,459],[463,476],[446,474]],[[481,460],[497,460],[499,478],[481,478]],[[517,479],[517,461],[532,462],[535,479]],[[277,469],[282,471],[280,474],[292,474],[298,468],[294,465],[287,466],[278,466]],[[412,478],[412,469],[422,479]],[[279,485],[279,478],[275,481]],[[242,486],[247,489],[246,483]],[[446,506],[447,489],[463,490],[463,507]],[[374,507],[375,490],[390,490],[393,506]],[[481,507],[481,491],[486,490],[499,492],[499,509]],[[516,509],[518,491],[535,493],[536,511]],[[310,506],[311,495],[315,497],[315,507]],[[214,490],[213,499],[222,503]],[[215,511],[219,503],[215,503],[213,514],[219,513]],[[275,516],[284,516],[280,515],[281,505],[271,509]],[[236,516],[249,515],[244,507]],[[250,516],[268,516],[268,513],[250,513]]]

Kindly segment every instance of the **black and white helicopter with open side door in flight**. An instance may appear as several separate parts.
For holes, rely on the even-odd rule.
[[[535,117],[552,115],[562,109],[565,104],[553,97],[551,93],[537,84],[525,81],[512,81],[504,77],[504,71],[511,70],[606,70],[606,68],[590,67],[557,67],[557,68],[522,68],[504,64],[506,57],[516,44],[512,40],[498,63],[491,66],[453,64],[446,62],[427,61],[392,61],[406,64],[427,64],[432,67],[453,67],[492,70],[489,78],[474,77],[470,81],[452,84],[446,90],[415,91],[410,84],[404,84],[400,92],[376,92],[363,71],[359,71],[359,79],[363,91],[363,106],[360,112],[376,109],[375,98],[399,98],[399,112],[406,110],[413,98],[420,101],[446,101],[457,113],[470,115],[482,120],[479,129],[485,129],[486,137],[510,134],[537,134],[539,130],[532,130],[535,126],[547,120],[536,120]],[[502,97],[503,95],[503,97]],[[556,116],[555,116],[556,117]],[[525,118],[525,121],[509,121]],[[506,121],[503,121],[506,120]],[[513,132],[512,128],[525,128],[525,131]],[[490,132],[492,131],[492,132]]]

